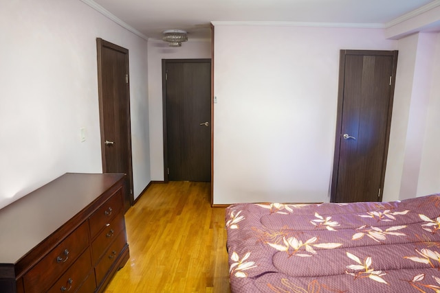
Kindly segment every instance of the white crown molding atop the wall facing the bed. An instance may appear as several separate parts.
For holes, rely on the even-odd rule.
[[[440,0],[439,0],[440,1]],[[214,26],[349,27],[383,29],[382,23],[305,23],[293,21],[211,21]]]

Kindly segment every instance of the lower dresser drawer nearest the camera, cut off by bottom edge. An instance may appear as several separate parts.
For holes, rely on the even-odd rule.
[[[90,271],[90,249],[87,249],[47,292],[75,292]]]

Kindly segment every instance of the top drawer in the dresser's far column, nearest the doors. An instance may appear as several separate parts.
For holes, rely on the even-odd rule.
[[[122,209],[122,189],[111,196],[102,206],[90,217],[90,233],[94,239],[102,228],[105,228],[113,217]]]

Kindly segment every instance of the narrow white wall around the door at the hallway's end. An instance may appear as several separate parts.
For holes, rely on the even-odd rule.
[[[190,35],[188,36],[190,38]],[[164,128],[162,107],[162,59],[211,58],[210,40],[189,40],[181,47],[168,47],[162,40],[148,39],[148,99],[152,180],[164,180]]]

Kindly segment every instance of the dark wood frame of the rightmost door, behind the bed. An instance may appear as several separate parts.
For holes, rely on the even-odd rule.
[[[388,159],[388,143],[390,140],[391,131],[391,114],[393,113],[393,99],[395,91],[395,78],[397,72],[397,55],[398,51],[381,51],[381,50],[340,50],[339,55],[339,82],[338,82],[338,110],[336,118],[336,135],[335,135],[335,152],[333,156],[333,172],[331,176],[331,191],[330,201],[335,202],[336,191],[338,187],[338,172],[339,172],[339,156],[340,156],[340,136],[342,134],[342,110],[344,106],[344,76],[345,76],[345,56],[346,55],[374,55],[374,56],[393,56],[393,71],[391,75],[391,91],[390,91],[390,106],[388,107],[388,120],[386,121],[386,137],[384,162],[382,164],[380,177],[380,196],[379,200],[382,202],[382,194],[384,193],[385,170],[386,161]]]

